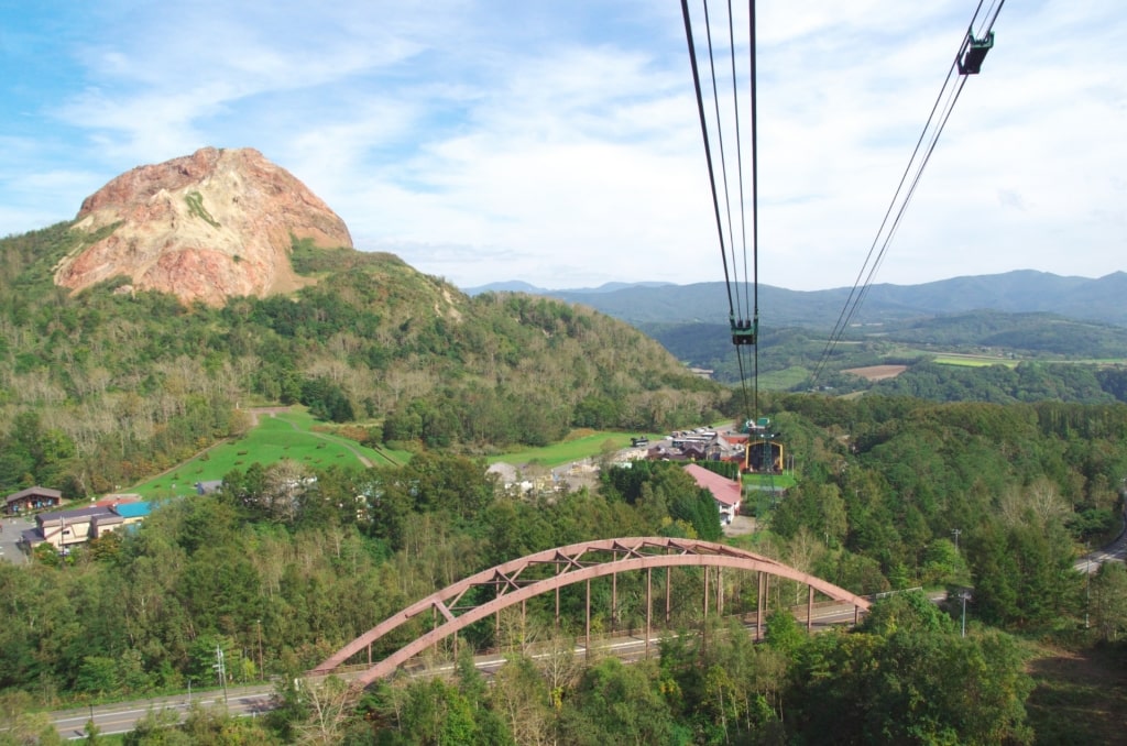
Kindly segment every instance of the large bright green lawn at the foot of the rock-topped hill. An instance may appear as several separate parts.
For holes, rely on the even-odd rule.
[[[290,459],[311,469],[326,469],[331,464],[356,465],[391,463],[376,451],[354,441],[314,433],[317,420],[301,408],[275,415],[260,415],[258,425],[241,438],[225,441],[198,454],[190,461],[128,488],[144,498],[186,495],[199,481],[215,481],[234,470],[246,470],[252,463],[264,467]],[[401,451],[384,452],[396,463],[406,463],[410,454]]]

